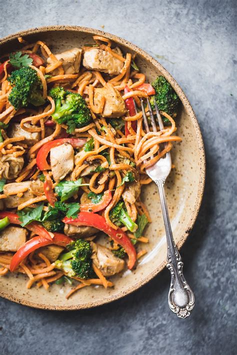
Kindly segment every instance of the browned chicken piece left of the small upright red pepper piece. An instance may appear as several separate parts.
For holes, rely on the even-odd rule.
[[[23,193],[21,197],[17,193]],[[20,203],[27,201],[30,198],[43,194],[43,182],[40,180],[11,182],[3,187],[3,193],[7,195],[4,198],[4,205],[6,208],[15,208]],[[12,194],[14,193],[14,194]]]

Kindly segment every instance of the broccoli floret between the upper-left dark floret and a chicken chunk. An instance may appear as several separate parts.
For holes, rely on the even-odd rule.
[[[49,91],[49,95],[55,102],[52,118],[59,124],[66,123],[67,132],[71,133],[75,128],[90,123],[90,110],[79,93],[65,91],[63,87],[57,86]]]

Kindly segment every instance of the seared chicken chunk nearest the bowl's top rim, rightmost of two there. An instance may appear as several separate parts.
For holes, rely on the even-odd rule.
[[[122,56],[122,52],[118,47],[113,48],[113,51]],[[83,66],[87,69],[117,75],[123,67],[123,62],[106,50],[92,48],[84,52]]]

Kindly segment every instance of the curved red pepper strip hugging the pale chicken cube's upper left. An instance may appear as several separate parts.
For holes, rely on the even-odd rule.
[[[86,139],[79,139],[79,138],[60,138],[49,141],[41,146],[39,149],[37,156],[36,156],[36,165],[39,170],[49,170],[50,165],[47,162],[47,155],[51,148],[55,146],[61,145],[63,143],[70,143],[73,148],[80,148],[84,145]]]

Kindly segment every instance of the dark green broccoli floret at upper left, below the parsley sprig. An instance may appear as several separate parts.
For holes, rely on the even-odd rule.
[[[45,102],[41,81],[36,71],[29,66],[12,71],[7,80],[13,86],[8,100],[15,109],[26,107],[29,103],[39,106]]]

